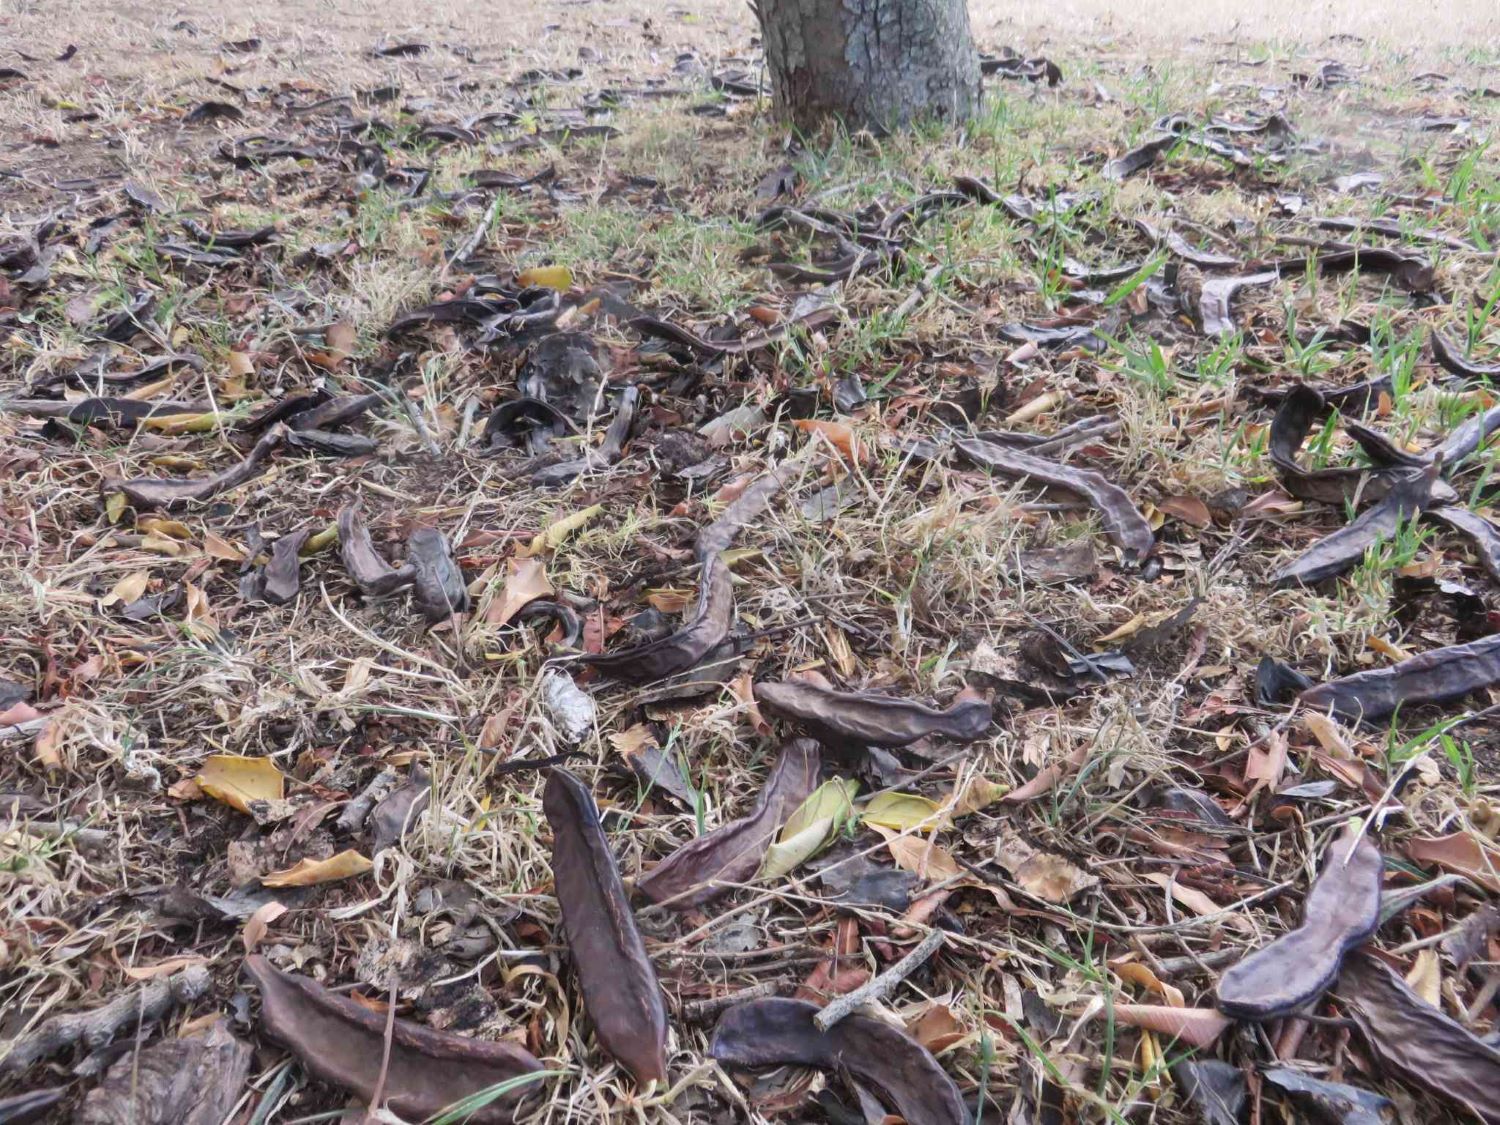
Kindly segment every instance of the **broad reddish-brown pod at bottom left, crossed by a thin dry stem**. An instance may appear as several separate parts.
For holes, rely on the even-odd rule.
[[[390,1062],[386,1016],[328,992],[308,976],[278,972],[261,956],[244,960],[244,972],[261,992],[261,1029],[296,1054],[310,1074],[352,1090],[366,1102],[384,1072],[386,1107],[406,1120],[423,1120],[464,1098],[528,1074],[542,1064],[504,1041],[470,1040],[394,1020]],[[474,1122],[510,1122],[526,1088],[478,1108]]]

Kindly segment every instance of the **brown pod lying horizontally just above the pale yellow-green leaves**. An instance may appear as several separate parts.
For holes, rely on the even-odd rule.
[[[908,746],[928,735],[972,742],[984,736],[993,717],[982,699],[962,699],[939,711],[909,699],[834,692],[798,681],[756,684],[754,698],[826,741],[864,746]]]

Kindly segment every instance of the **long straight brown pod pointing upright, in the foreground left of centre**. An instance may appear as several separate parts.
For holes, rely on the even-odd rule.
[[[664,1082],[666,1004],[594,798],[573,774],[552,770],[542,810],[552,828],[552,880],[562,930],[598,1046],[636,1082]]]

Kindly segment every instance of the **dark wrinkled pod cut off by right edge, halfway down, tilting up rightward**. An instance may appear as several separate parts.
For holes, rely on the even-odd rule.
[[[1500,633],[1467,645],[1434,648],[1389,668],[1329,680],[1298,698],[1317,711],[1377,720],[1402,705],[1444,704],[1491,684],[1500,684]]]

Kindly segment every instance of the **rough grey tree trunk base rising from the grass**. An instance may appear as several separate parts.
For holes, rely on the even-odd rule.
[[[776,110],[801,129],[884,132],[980,105],[964,0],[759,0],[759,16]]]

